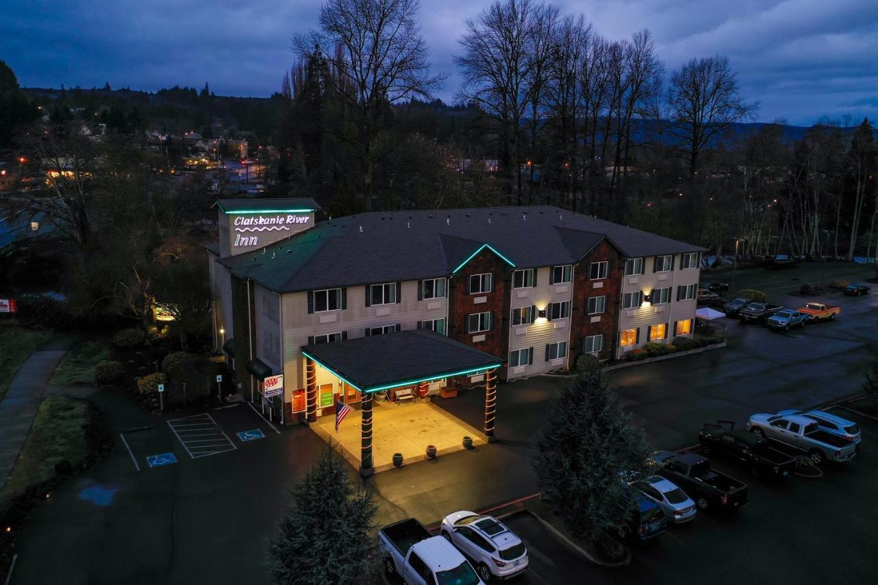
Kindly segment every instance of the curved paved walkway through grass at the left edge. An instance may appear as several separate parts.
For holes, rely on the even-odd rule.
[[[18,453],[25,446],[37,408],[52,372],[76,342],[75,335],[55,336],[27,358],[0,401],[0,489],[6,484]]]

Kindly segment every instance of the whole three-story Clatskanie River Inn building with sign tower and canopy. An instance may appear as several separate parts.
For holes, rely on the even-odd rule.
[[[373,394],[485,384],[490,438],[494,379],[694,330],[702,248],[557,207],[320,222],[313,199],[217,207],[215,348],[245,399],[284,423],[341,401],[371,428]]]

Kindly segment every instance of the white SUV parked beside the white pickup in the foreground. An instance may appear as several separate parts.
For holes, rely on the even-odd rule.
[[[522,539],[493,516],[453,512],[443,518],[440,530],[472,561],[482,581],[509,579],[528,568],[528,550]]]

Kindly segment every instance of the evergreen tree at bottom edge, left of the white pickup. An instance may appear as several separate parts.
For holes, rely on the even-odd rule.
[[[331,447],[291,489],[292,505],[269,545],[275,581],[295,585],[370,583],[371,495],[351,485]]]

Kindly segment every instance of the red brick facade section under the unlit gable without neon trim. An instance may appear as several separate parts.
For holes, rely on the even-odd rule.
[[[594,288],[598,280],[589,280],[588,265],[593,262],[607,262],[607,278],[602,280],[601,288]],[[607,240],[601,240],[580,262],[576,264],[573,278],[572,319],[570,331],[571,365],[582,353],[582,344],[587,336],[603,335],[603,350],[599,358],[612,359],[615,346],[618,345],[617,329],[619,310],[622,305],[622,282],[624,278],[625,260]],[[588,314],[587,299],[589,297],[607,297],[606,307],[601,314],[601,321],[591,322]]]

